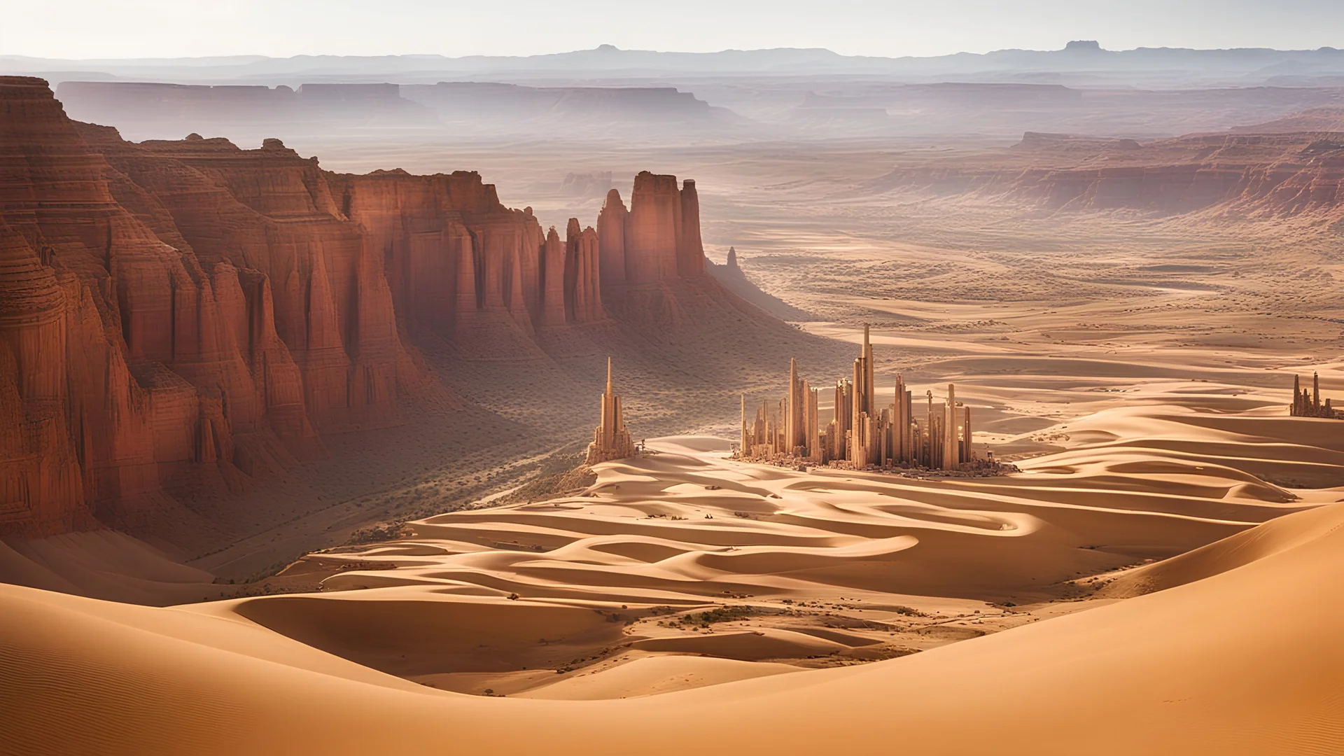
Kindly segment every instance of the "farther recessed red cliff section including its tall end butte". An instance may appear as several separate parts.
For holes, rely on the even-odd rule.
[[[226,149],[202,144],[212,141],[180,149]],[[676,176],[645,171],[634,179],[632,210],[612,190],[595,229],[571,218],[563,237],[552,238],[531,209],[500,204],[495,186],[476,172],[323,176],[335,214],[362,226],[368,246],[382,252],[396,312],[413,332],[460,336],[507,320],[531,335],[602,323],[610,317],[603,287],[704,274],[692,180],[677,188]]]

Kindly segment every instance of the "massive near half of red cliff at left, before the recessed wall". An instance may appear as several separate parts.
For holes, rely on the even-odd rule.
[[[0,533],[134,526],[321,455],[321,430],[395,422],[426,381],[313,161],[132,145],[42,79],[0,78],[0,395],[23,417]]]

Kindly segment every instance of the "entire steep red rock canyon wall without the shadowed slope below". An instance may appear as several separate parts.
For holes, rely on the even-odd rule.
[[[134,529],[324,437],[460,406],[411,346],[676,324],[694,182],[640,174],[563,238],[474,172],[323,171],[278,140],[132,144],[0,77],[0,535]],[[614,303],[614,304],[609,304]],[[477,336],[488,335],[487,339]]]

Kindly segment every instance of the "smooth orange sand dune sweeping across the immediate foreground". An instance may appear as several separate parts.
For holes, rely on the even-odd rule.
[[[300,743],[332,753],[446,743],[680,753],[692,734],[714,751],[784,753],[1335,753],[1344,747],[1340,525],[1340,506],[1289,515],[1274,526],[1298,542],[1254,562],[902,659],[625,701],[492,700],[360,679],[360,667],[319,663],[316,651],[282,662],[228,648],[224,636],[266,638],[246,623],[5,587],[0,600],[19,621],[0,630],[0,704],[15,714],[8,747],[48,753],[278,753]],[[65,721],[69,710],[82,716]],[[1116,712],[1141,726],[1098,726]]]

